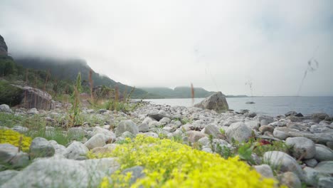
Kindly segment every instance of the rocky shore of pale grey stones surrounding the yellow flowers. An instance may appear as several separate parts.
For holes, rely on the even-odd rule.
[[[218,113],[201,107],[142,103],[129,113],[82,108],[86,122],[66,130],[63,125],[68,112],[61,105],[49,111],[0,105],[0,113],[13,119],[43,120],[45,135],[52,135],[58,127],[62,134],[72,135],[66,145],[34,137],[25,151],[0,142],[0,187],[98,187],[102,177],[116,172],[121,164],[114,157],[90,159],[88,153],[112,152],[127,137],[137,135],[178,139],[196,150],[219,154],[233,151],[240,143],[253,142],[258,144],[255,147],[261,147],[279,142],[290,147],[289,152],[272,147],[274,150],[265,150],[261,156],[251,152],[250,159],[244,162],[263,177],[277,179],[288,187],[332,187],[333,119],[329,115],[289,112],[270,117],[248,110]],[[0,130],[23,135],[36,131],[15,120],[11,124],[0,120]],[[129,169],[134,179],[142,176],[142,170]]]

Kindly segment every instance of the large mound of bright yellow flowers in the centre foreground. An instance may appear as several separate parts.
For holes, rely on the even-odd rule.
[[[277,183],[261,177],[238,157],[226,160],[171,140],[144,135],[127,139],[127,143],[113,152],[90,153],[88,157],[118,157],[120,170],[137,165],[144,167],[145,177],[134,184],[128,183],[128,174],[117,172],[111,178],[105,177],[101,187],[275,187]]]

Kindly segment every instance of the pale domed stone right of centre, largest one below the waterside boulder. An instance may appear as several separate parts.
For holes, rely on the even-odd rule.
[[[228,142],[231,142],[232,139],[235,139],[238,142],[246,142],[251,136],[252,131],[244,124],[244,122],[234,122],[228,127],[228,130],[226,130]]]

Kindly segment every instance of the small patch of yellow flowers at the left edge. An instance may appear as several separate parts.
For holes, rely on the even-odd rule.
[[[31,137],[26,137],[14,130],[0,129],[0,144],[8,143],[19,147],[23,152],[28,152]]]

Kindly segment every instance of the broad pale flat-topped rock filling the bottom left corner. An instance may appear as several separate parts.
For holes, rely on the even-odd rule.
[[[103,177],[119,168],[115,158],[85,161],[40,159],[2,187],[98,187]]]

